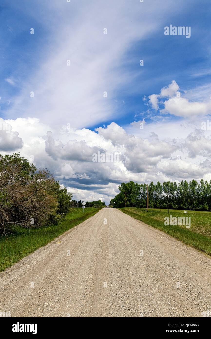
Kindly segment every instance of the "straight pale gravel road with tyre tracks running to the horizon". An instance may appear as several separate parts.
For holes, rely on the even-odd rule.
[[[0,312],[202,317],[211,312],[210,272],[210,257],[104,208],[1,273]]]

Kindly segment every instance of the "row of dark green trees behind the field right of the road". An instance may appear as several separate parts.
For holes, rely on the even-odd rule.
[[[146,207],[146,184],[137,184],[133,181],[122,183],[119,186],[120,193],[111,199],[113,207],[126,206]],[[200,184],[196,180],[176,182],[159,181],[154,185],[148,184],[149,207],[171,208],[197,211],[211,211],[211,180],[209,182],[201,179]]]

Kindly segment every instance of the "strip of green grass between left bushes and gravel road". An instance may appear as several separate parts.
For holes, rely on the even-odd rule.
[[[89,207],[85,208],[83,213],[83,208],[71,208],[65,220],[58,225],[30,228],[30,230],[14,227],[12,231],[14,235],[0,238],[0,271],[4,271],[6,267],[12,266],[70,228],[96,214],[99,210],[101,208]]]

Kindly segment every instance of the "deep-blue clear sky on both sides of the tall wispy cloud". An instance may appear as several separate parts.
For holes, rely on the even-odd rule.
[[[151,3],[153,4],[153,1]],[[33,5],[30,4],[32,12]],[[148,4],[140,4],[144,5]],[[54,40],[51,37],[52,32],[56,29],[47,27],[45,23],[40,24],[36,16],[30,13],[27,15],[27,10],[22,12],[21,7],[20,1],[16,2],[15,6],[14,1],[10,5],[1,6],[1,91],[4,94],[1,102],[2,117],[7,117],[7,111],[10,111],[8,100],[12,101],[11,99],[21,92],[24,82],[39,69],[46,50]],[[158,21],[158,28],[144,39],[132,42],[118,60],[116,67],[121,64],[121,72],[128,73],[131,78],[131,83],[122,84],[113,95],[114,102],[117,101],[114,103],[114,109],[117,112],[121,111],[121,116],[118,114],[115,120],[118,124],[130,123],[135,114],[143,113],[146,106],[142,97],[158,93],[172,79],[184,90],[209,83],[210,74],[205,73],[197,77],[194,75],[211,69],[209,45],[211,3],[187,1],[185,6],[182,5],[182,10],[179,8],[178,3],[176,13],[169,13],[165,19],[159,14],[155,18]],[[34,9],[37,10],[36,6]],[[71,19],[72,15],[69,17]],[[191,26],[191,38],[164,36],[163,22],[165,25],[171,23],[175,26]],[[30,35],[29,27],[35,27],[36,34]],[[140,58],[144,59],[143,67],[139,65]],[[16,85],[11,86],[5,82],[7,78],[12,79]],[[102,123],[111,121],[113,119],[106,119]],[[97,126],[98,124],[95,126],[90,124],[88,127]]]

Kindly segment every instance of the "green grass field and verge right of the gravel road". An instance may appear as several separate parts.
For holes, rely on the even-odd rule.
[[[164,210],[149,208],[125,207],[119,208],[123,213],[141,220],[146,224],[158,228],[170,236],[184,242],[185,244],[197,248],[211,255],[211,212],[184,210]],[[169,217],[191,217],[191,227],[185,226],[165,226],[164,218]]]

